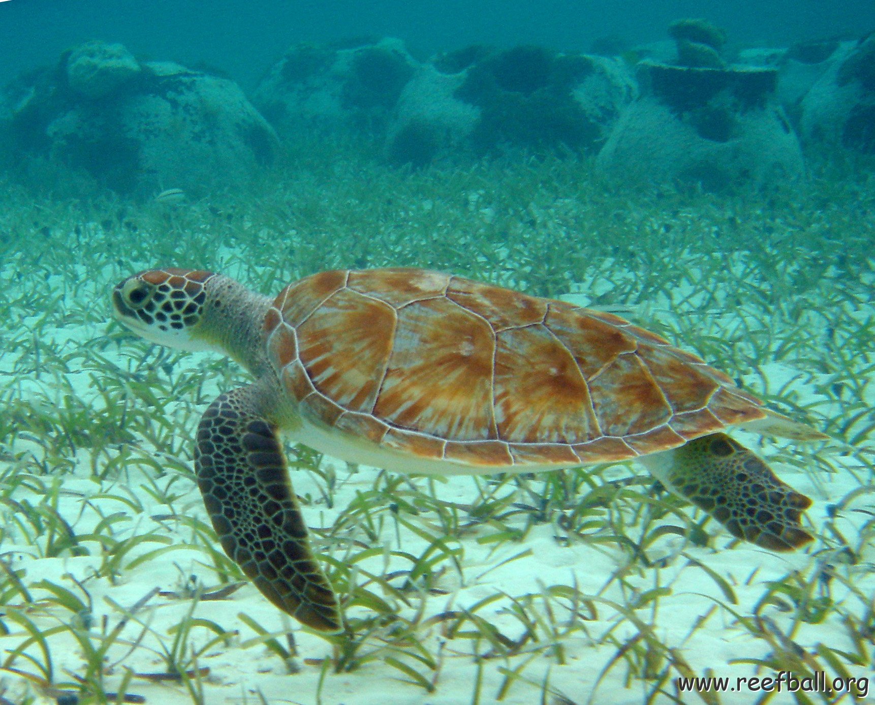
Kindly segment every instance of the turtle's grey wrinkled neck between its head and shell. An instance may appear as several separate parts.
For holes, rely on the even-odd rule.
[[[264,316],[271,303],[270,297],[217,274],[207,283],[199,337],[233,357],[254,377],[262,377],[271,369],[264,350]]]

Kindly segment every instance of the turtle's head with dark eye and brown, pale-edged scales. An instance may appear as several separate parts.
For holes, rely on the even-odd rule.
[[[184,350],[215,349],[200,324],[210,299],[210,280],[216,276],[175,267],[141,271],[113,290],[113,312],[148,341]]]

